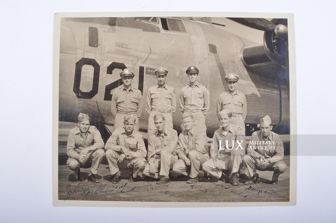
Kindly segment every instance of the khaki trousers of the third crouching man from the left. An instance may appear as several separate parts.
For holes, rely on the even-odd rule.
[[[173,169],[173,166],[177,158],[166,150],[161,150],[161,154],[155,158],[155,174],[150,173],[150,164],[147,163],[142,173],[146,176],[150,176],[158,179],[159,175],[168,176],[169,171]],[[160,169],[160,173],[159,173]]]

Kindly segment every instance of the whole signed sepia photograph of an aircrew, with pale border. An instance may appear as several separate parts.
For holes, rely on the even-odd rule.
[[[56,13],[54,205],[295,205],[292,14],[165,14]]]

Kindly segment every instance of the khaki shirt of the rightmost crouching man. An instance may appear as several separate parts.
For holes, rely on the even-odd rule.
[[[284,145],[282,138],[272,131],[267,138],[262,135],[261,130],[255,131],[252,133],[249,146],[247,147],[247,154],[255,159],[258,159],[261,155],[265,158],[269,158],[271,163],[283,160]]]

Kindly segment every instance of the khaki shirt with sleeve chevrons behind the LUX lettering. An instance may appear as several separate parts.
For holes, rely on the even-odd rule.
[[[219,150],[219,140],[222,141],[221,149],[223,150]],[[226,140],[228,141],[227,142],[228,148],[226,147]],[[238,140],[239,143],[243,141],[241,143],[241,147],[244,150],[242,150],[239,147],[239,144],[236,142],[236,140]],[[242,151],[242,155],[245,154],[246,142],[245,142],[244,133],[243,133],[242,128],[237,125],[231,124],[228,132],[225,134],[223,128],[220,127],[215,131],[213,138],[212,138],[212,143],[210,147],[211,158],[215,156],[225,156],[226,154],[230,154],[231,150],[236,150],[237,147],[238,147],[238,150]]]

